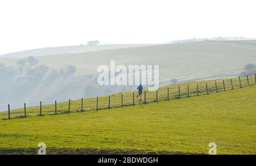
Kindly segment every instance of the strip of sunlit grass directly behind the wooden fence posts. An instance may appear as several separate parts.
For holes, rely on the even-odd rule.
[[[160,87],[158,90],[158,101],[167,100],[167,93],[169,88],[169,100],[178,99],[178,90],[180,87],[180,98],[187,97],[188,96],[188,86],[189,86],[189,96],[196,96],[197,95],[197,84],[199,86],[199,95],[205,95],[207,94],[206,90],[206,83],[208,86],[208,93],[216,93],[216,85],[215,81],[217,83],[217,89],[218,92],[224,91],[224,84],[225,83],[225,90],[232,90],[232,84],[231,79],[233,82],[233,88],[240,88],[240,82],[238,78],[228,78],[228,79],[217,79],[217,80],[202,80],[200,82],[189,82],[189,83],[182,83],[182,84],[173,84],[170,86],[164,86]],[[255,75],[249,76],[249,84],[255,83]],[[241,86],[245,87],[247,86],[247,78],[241,78]],[[144,93],[142,95],[142,101],[137,98],[138,92],[134,92],[134,98],[135,98],[135,105],[144,104]],[[133,105],[133,92],[125,92],[125,93],[115,93],[110,95],[110,108],[115,107],[121,107],[122,100],[121,95],[123,95],[123,107]],[[146,90],[146,103],[151,103],[156,101],[156,92],[148,92]],[[54,101],[52,102],[54,103]],[[99,96],[98,97],[98,109],[108,109],[109,106],[109,96]],[[27,117],[31,116],[39,116],[40,113],[40,107],[39,107],[40,101],[38,101],[38,106],[36,107],[29,107],[29,105],[26,105],[26,114]],[[55,114],[55,104],[47,104],[45,105],[42,101],[42,114]],[[11,109],[11,118],[22,118],[24,117],[24,108],[23,105],[20,105],[21,109]],[[97,107],[97,98],[87,98],[83,99],[83,110],[96,110]],[[7,105],[6,105],[7,109]],[[68,112],[68,101],[58,103],[57,102],[57,114],[63,114]],[[71,107],[70,112],[81,112],[81,99],[80,100],[71,100]],[[1,111],[0,112],[0,118],[6,119],[8,118],[8,112],[7,111]]]

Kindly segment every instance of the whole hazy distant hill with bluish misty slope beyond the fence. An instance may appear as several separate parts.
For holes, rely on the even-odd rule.
[[[15,66],[20,59],[23,58],[4,58],[0,59],[0,63]],[[7,86],[0,88],[5,90],[6,97],[0,101],[0,105],[39,100],[53,102],[134,90],[134,86],[98,86],[97,67],[109,65],[110,60],[115,60],[116,65],[159,65],[160,85],[170,84],[171,79],[174,78],[178,82],[187,82],[236,76],[243,71],[247,63],[256,63],[256,45],[233,41],[201,41],[61,53],[38,56],[36,59],[38,59],[37,66],[46,65],[48,68],[42,66],[36,68],[38,70],[34,73],[39,75],[31,75],[34,70],[32,68],[18,79],[11,81],[3,79],[2,85],[7,84]],[[75,72],[71,75],[60,77],[61,72],[57,74],[57,71],[51,72],[52,69],[58,70],[68,65],[75,67]],[[49,77],[48,74],[51,76]],[[19,84],[16,85],[15,83],[18,82]],[[10,87],[8,83],[15,85],[11,85],[12,88],[8,89]]]

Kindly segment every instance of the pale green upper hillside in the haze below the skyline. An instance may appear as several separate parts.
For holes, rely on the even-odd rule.
[[[76,75],[95,75],[99,65],[159,65],[160,81],[208,78],[217,74],[240,73],[246,63],[256,63],[253,44],[229,41],[202,41],[184,44],[163,44],[94,52],[65,53],[36,57],[49,67],[76,66]],[[127,57],[129,57],[127,59]],[[156,58],[157,57],[157,58]],[[1,59],[15,65],[19,58]],[[236,65],[234,65],[236,64]]]

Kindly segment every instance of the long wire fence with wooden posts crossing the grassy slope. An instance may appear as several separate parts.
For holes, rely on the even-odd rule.
[[[7,120],[11,118],[27,118],[31,116],[44,116],[46,114],[57,115],[72,112],[85,112],[90,110],[111,109],[117,107],[135,106],[163,100],[181,99],[183,97],[192,97],[197,95],[207,95],[210,93],[219,93],[236,88],[243,88],[256,83],[256,74],[237,77],[232,79],[203,80],[200,82],[189,82],[189,84],[173,84],[160,87],[158,91],[144,91],[142,97],[138,92],[115,93],[109,96],[98,96],[94,98],[53,101],[50,104],[39,101],[37,106],[18,105],[15,109],[10,104],[7,105],[7,111],[0,112],[0,118]],[[22,108],[20,108],[22,107]]]

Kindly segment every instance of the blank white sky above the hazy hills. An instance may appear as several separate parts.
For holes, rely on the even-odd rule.
[[[102,42],[256,37],[255,0],[1,0],[0,54]]]

